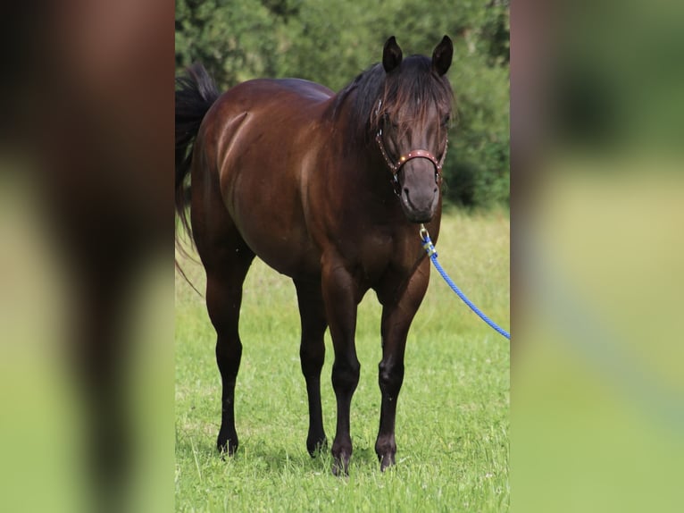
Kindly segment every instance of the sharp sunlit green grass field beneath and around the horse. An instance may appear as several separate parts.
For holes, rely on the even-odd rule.
[[[445,215],[439,261],[492,319],[509,327],[509,218]],[[416,244],[418,244],[416,235]],[[200,265],[182,261],[197,289]],[[380,473],[380,307],[359,307],[361,380],[352,402],[349,476],[330,473],[329,451],[310,458],[299,369],[299,317],[288,278],[255,260],[245,284],[244,344],[236,390],[240,448],[215,450],[221,380],[215,335],[200,298],[176,281],[176,509],[178,511],[505,511],[509,508],[509,343],[472,314],[438,273],[409,333],[396,416],[396,467]],[[321,395],[334,436],[326,335]]]

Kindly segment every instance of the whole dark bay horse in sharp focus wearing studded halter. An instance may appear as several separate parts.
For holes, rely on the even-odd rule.
[[[238,317],[247,269],[259,256],[295,282],[312,456],[327,444],[321,367],[323,335],[330,330],[336,474],[347,472],[352,455],[349,408],[360,371],[356,309],[366,291],[376,292],[382,399],[375,450],[382,470],[395,463],[406,336],[430,277],[417,223],[426,223],[434,240],[439,232],[441,166],[454,103],[446,79],[452,55],[446,36],[431,59],[404,59],[389,38],[382,63],[337,95],[294,79],[250,80],[220,95],[200,65],[178,80],[176,208],[191,226],[206,271],[206,305],[218,336],[219,450],[238,448]]]

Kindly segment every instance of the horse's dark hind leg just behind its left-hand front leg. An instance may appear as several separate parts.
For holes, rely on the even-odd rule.
[[[306,449],[313,458],[318,451],[325,449],[328,445],[323,430],[321,409],[321,369],[325,359],[323,337],[328,323],[321,295],[321,282],[295,280],[295,286],[302,321],[299,357],[309,402],[309,433],[306,437]]]

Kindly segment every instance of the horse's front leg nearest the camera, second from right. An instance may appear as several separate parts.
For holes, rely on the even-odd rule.
[[[335,440],[332,443],[332,472],[335,475],[346,475],[349,470],[349,459],[352,456],[349,410],[361,371],[355,347],[359,289],[354,278],[343,265],[328,261],[324,262],[322,269],[322,292],[335,350],[332,387],[338,405],[338,424]]]

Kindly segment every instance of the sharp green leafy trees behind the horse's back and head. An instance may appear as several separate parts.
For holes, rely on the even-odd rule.
[[[458,114],[444,168],[446,198],[509,206],[508,0],[176,0],[176,69],[204,63],[221,88],[298,77],[334,90],[381,59],[396,36],[405,55],[454,40],[449,79]]]

